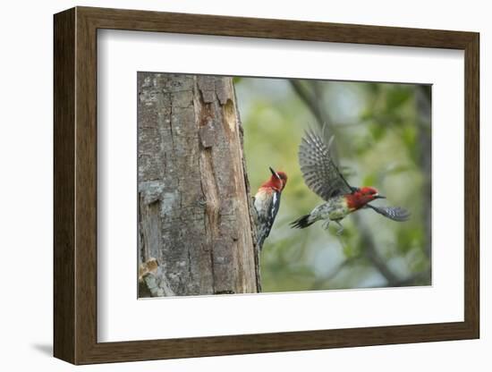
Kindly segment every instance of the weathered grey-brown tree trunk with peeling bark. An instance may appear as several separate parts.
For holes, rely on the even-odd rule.
[[[140,297],[259,290],[231,78],[138,73]]]

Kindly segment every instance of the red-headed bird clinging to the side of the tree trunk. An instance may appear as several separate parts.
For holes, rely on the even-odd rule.
[[[258,247],[263,247],[270,230],[275,222],[276,213],[280,207],[280,196],[287,183],[287,174],[276,172],[270,167],[272,175],[264,182],[255,195],[254,206],[258,217]]]

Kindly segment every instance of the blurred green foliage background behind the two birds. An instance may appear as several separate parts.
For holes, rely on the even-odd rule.
[[[399,205],[411,220],[395,223],[369,210],[344,219],[335,234],[320,223],[292,229],[289,223],[322,202],[304,184],[297,159],[302,133],[318,127],[315,115],[288,80],[234,78],[244,126],[244,149],[254,193],[270,175],[268,166],[288,175],[276,223],[261,254],[264,292],[397,285],[389,283],[369,255],[374,249],[402,281],[426,272],[430,206],[430,117],[422,116],[417,95],[430,100],[428,87],[411,84],[301,81],[327,114],[335,134],[339,165],[354,186],[373,186],[387,197],[377,205]],[[428,163],[427,163],[428,162]],[[370,241],[361,239],[361,227]],[[398,265],[395,264],[398,262]],[[428,284],[423,281],[419,284]]]

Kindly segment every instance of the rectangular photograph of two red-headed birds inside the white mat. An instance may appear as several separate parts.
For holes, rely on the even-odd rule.
[[[431,85],[138,72],[139,298],[431,285]]]

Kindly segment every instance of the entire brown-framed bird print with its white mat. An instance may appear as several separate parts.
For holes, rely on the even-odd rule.
[[[74,364],[478,338],[479,34],[55,14],[54,196]]]

